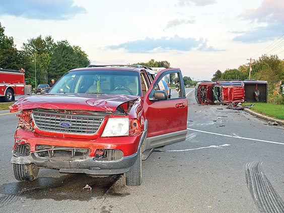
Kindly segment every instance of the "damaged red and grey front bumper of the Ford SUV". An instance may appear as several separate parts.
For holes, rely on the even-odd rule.
[[[62,173],[85,173],[91,175],[111,175],[128,172],[137,159],[137,150],[143,143],[145,132],[133,136],[98,137],[96,139],[62,138],[39,135],[33,131],[18,128],[15,133],[14,149],[23,144],[30,147],[30,155],[23,156],[13,152],[11,163],[34,164],[37,167],[59,169]],[[62,146],[69,148],[88,148],[90,154],[84,159],[46,159],[39,157],[35,151],[37,145]],[[97,149],[121,150],[123,157],[120,160],[98,160],[95,158]]]

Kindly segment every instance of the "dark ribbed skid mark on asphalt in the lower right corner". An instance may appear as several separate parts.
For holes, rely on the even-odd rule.
[[[262,162],[245,165],[246,182],[259,212],[284,212],[284,203],[261,169]]]

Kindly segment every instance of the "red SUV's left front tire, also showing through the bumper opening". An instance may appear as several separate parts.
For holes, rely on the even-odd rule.
[[[27,149],[26,145],[19,145],[14,152],[28,155],[30,151]],[[39,168],[34,164],[13,164],[14,176],[19,181],[32,181],[37,179],[38,171]]]

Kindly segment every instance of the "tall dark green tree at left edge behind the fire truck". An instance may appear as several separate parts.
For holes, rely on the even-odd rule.
[[[20,70],[21,60],[12,37],[4,34],[5,27],[0,22],[0,67]]]

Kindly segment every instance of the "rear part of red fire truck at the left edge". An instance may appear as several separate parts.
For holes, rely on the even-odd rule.
[[[0,68],[0,101],[11,102],[17,95],[31,94],[31,85],[25,84],[25,70]]]

